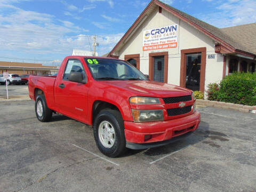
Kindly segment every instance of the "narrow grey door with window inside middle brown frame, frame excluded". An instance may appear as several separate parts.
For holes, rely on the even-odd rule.
[[[164,56],[154,57],[154,81],[164,82]]]

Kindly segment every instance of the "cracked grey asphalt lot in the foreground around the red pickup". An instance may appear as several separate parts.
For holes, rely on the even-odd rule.
[[[34,101],[0,108],[0,191],[256,191],[255,114],[199,108],[189,138],[108,158],[85,124],[41,123]]]

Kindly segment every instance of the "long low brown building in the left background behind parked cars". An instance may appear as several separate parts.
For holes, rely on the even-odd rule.
[[[0,61],[0,74],[7,72],[9,74],[18,75],[53,75],[55,73],[58,73],[58,70],[58,67],[43,66],[39,63]]]

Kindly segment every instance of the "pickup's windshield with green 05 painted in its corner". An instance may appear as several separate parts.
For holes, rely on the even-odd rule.
[[[98,80],[148,80],[137,68],[114,59],[84,58],[94,79]]]

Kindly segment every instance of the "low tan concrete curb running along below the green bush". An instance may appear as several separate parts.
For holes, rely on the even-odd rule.
[[[197,99],[196,105],[207,106],[207,107],[217,107],[217,108],[222,108],[222,109],[231,109],[231,110],[242,111],[245,113],[255,113],[256,114],[256,106],[245,106],[245,105],[239,105],[239,104],[235,104],[235,103],[209,101],[209,100],[203,100],[203,99]]]

